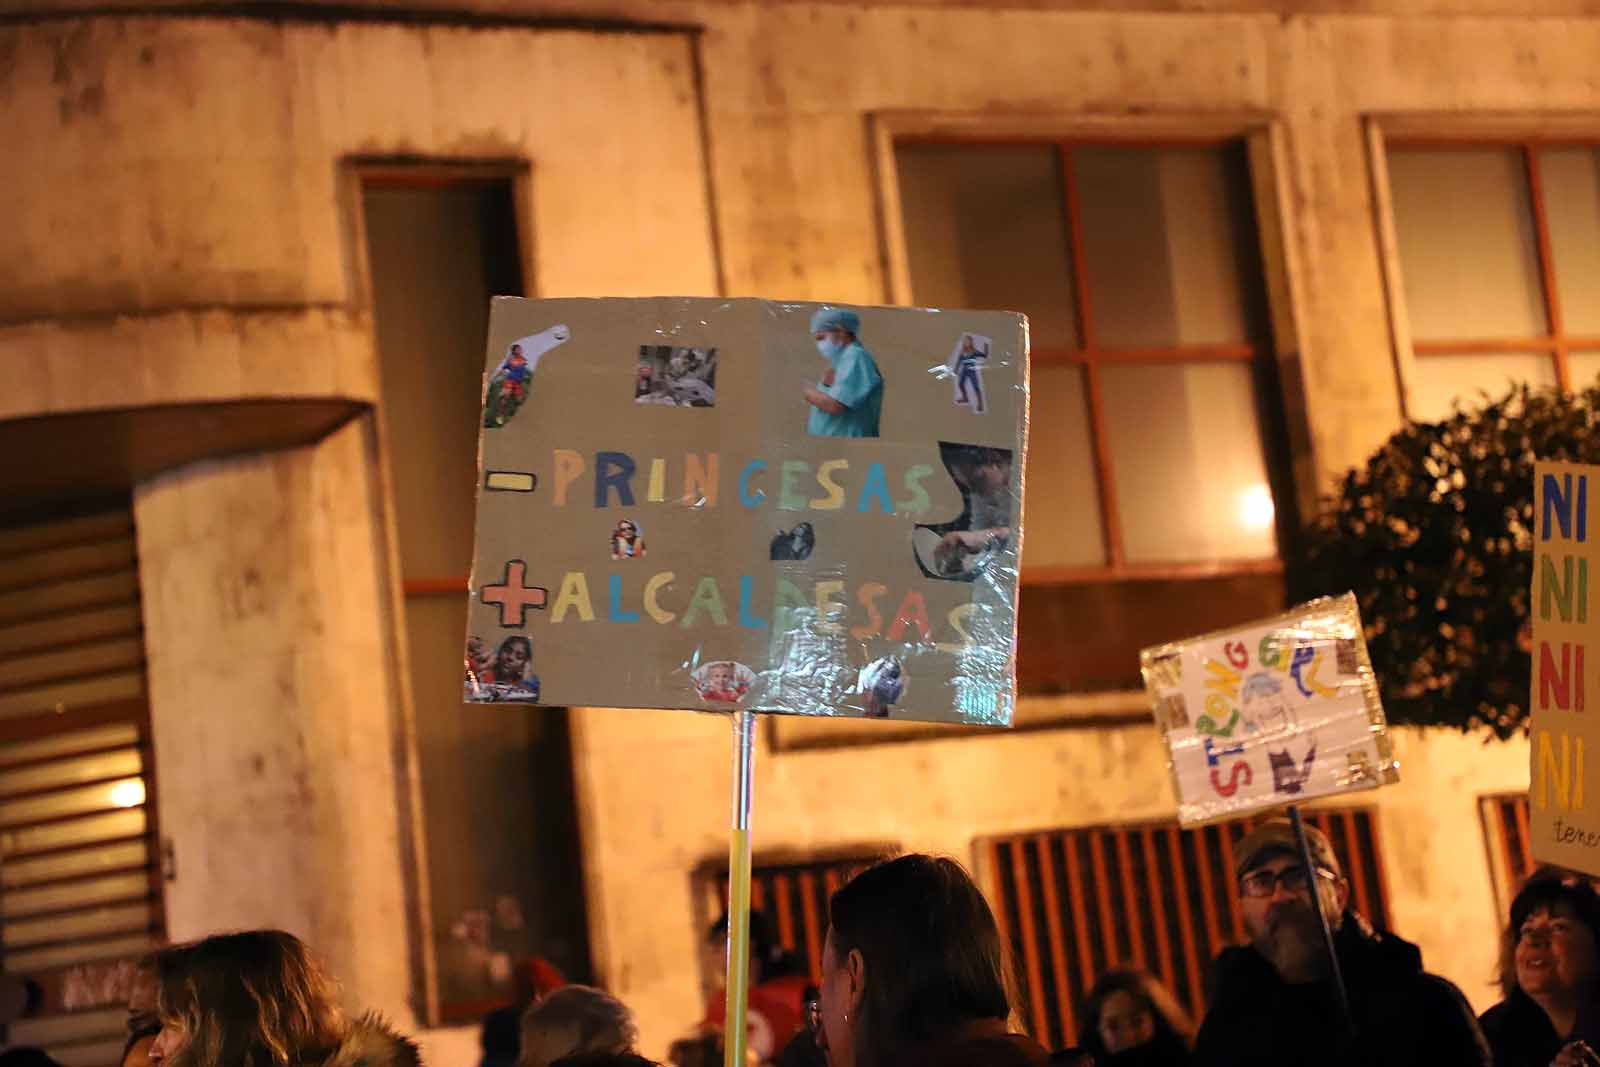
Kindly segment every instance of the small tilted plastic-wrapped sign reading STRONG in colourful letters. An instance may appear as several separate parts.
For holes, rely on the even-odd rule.
[[[1400,779],[1350,593],[1147,648],[1141,667],[1184,825]]]

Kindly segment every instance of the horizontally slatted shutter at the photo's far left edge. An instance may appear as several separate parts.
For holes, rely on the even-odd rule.
[[[11,1045],[122,1051],[163,931],[133,515],[0,530],[0,969],[37,981]]]

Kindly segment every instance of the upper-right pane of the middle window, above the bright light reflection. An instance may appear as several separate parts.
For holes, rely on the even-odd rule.
[[[1237,344],[1256,290],[1243,149],[1074,149],[1098,347]]]

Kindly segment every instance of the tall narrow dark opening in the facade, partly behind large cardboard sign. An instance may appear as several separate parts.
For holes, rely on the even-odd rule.
[[[526,957],[576,981],[590,976],[566,710],[461,699],[488,307],[523,293],[517,181],[504,168],[362,171],[437,1022],[507,1003],[510,968]]]

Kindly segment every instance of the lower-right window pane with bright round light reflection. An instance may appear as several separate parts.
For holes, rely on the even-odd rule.
[[[1101,370],[1130,563],[1277,555],[1248,363]]]

